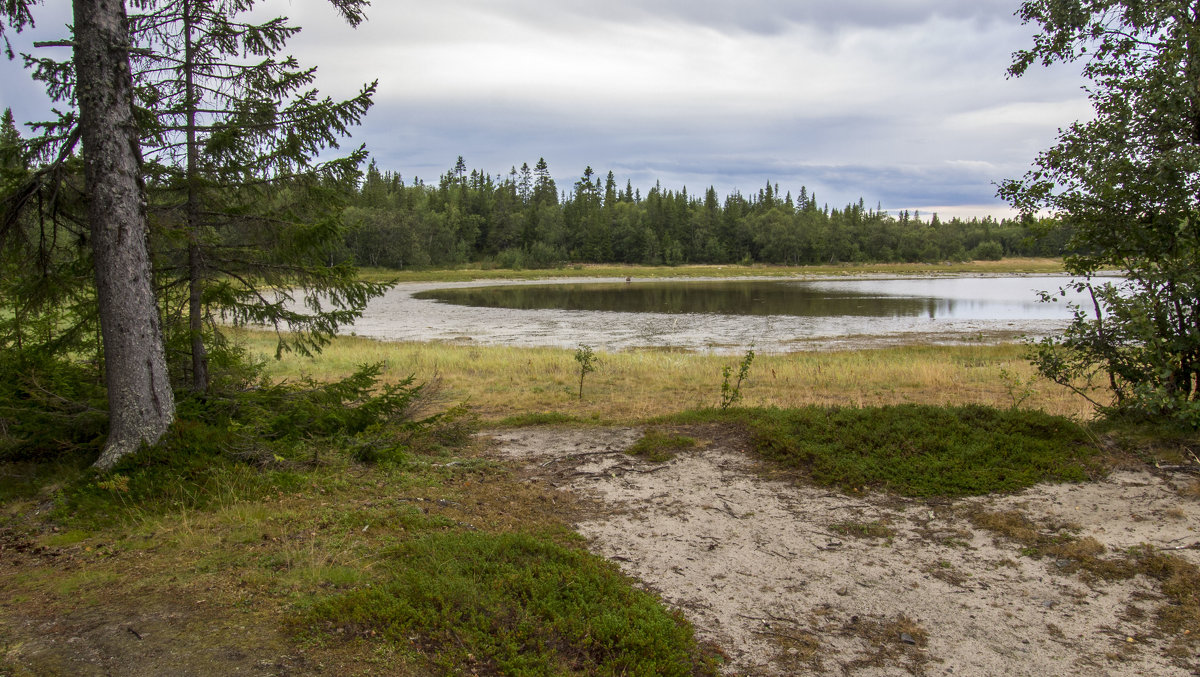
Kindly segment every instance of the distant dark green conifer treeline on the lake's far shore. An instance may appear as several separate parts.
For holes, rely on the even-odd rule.
[[[1056,223],[893,216],[859,199],[840,209],[767,184],[719,197],[654,186],[644,196],[590,167],[560,191],[545,160],[508,175],[467,170],[462,157],[437,185],[406,184],[372,162],[346,211],[342,258],[394,269],[487,262],[548,268],[566,262],[686,264],[946,262],[1062,256]]]

